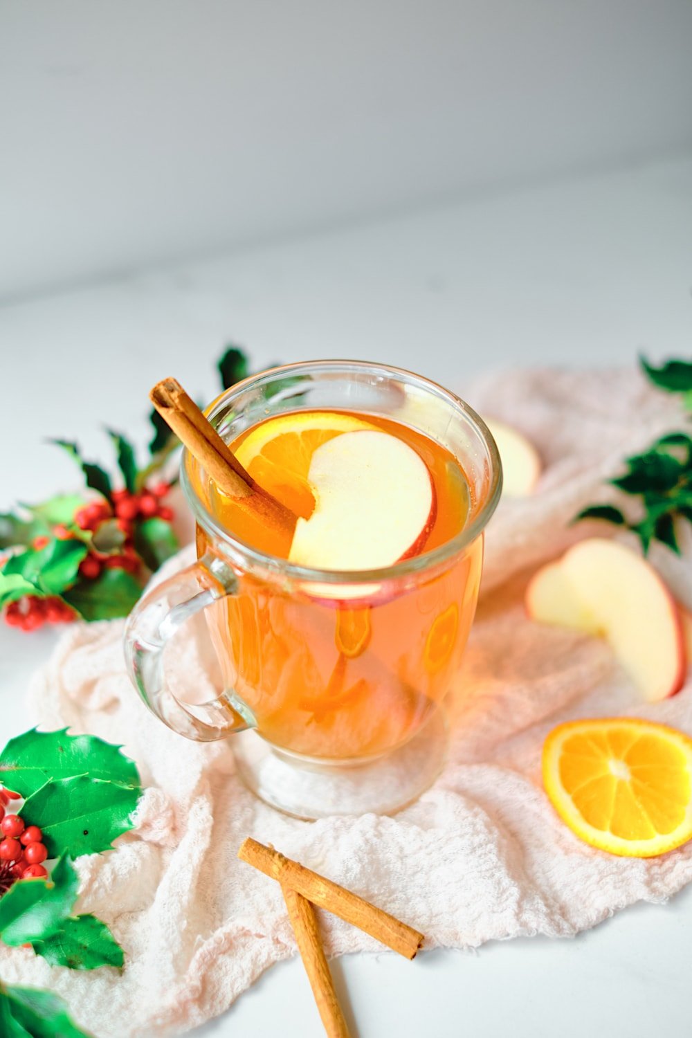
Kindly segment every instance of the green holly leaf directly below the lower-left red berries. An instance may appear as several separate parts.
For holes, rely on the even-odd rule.
[[[0,937],[17,947],[54,933],[77,900],[79,877],[67,856],[48,879],[21,879],[0,899]]]

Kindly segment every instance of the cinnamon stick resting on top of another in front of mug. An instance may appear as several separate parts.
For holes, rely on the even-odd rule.
[[[265,875],[278,880],[282,887],[290,887],[320,908],[326,908],[339,919],[369,933],[383,945],[398,952],[407,959],[415,958],[423,940],[422,933],[394,919],[382,908],[377,908],[338,883],[326,879],[311,869],[306,869],[284,857],[273,847],[266,847],[251,837],[241,845],[238,856],[254,866]]]

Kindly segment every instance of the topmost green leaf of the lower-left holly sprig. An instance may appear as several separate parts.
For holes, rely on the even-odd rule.
[[[87,773],[92,778],[140,789],[137,765],[121,747],[95,735],[38,732],[32,728],[10,739],[0,754],[0,782],[27,798],[51,778]]]

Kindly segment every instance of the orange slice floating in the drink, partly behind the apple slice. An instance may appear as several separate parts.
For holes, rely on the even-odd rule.
[[[233,453],[260,487],[304,519],[314,509],[307,481],[312,455],[327,440],[359,429],[377,429],[341,411],[299,411],[269,418],[250,430]]]

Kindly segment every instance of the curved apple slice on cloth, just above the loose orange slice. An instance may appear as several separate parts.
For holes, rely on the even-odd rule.
[[[533,620],[602,634],[643,699],[683,685],[686,653],[674,599],[632,549],[601,538],[580,541],[539,570],[526,592]]]

